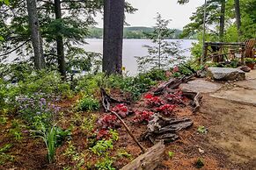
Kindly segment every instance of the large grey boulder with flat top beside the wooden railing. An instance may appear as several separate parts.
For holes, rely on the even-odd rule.
[[[238,68],[208,67],[208,75],[216,81],[244,81],[245,72]]]

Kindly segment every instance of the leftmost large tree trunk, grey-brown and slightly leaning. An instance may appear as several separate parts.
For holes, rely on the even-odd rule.
[[[29,29],[31,32],[31,39],[34,53],[34,67],[41,69],[45,67],[45,60],[43,55],[42,39],[40,36],[40,25],[36,9],[36,0],[26,0]]]

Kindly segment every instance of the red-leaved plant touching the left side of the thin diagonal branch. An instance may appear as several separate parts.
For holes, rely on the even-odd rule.
[[[102,129],[109,129],[119,127],[120,123],[116,116],[114,115],[105,115],[101,117],[98,121],[99,127]]]

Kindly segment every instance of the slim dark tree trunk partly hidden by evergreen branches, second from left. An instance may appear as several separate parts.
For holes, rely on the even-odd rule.
[[[62,9],[61,9],[61,1],[55,0],[55,19],[62,19]],[[62,78],[66,78],[66,62],[64,55],[64,43],[62,39],[62,34],[57,32],[56,36],[57,43],[57,57],[58,57],[58,67],[59,71],[62,74]]]

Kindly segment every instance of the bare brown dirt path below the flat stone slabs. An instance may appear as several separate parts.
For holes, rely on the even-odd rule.
[[[208,141],[239,169],[256,169],[256,107],[204,96],[201,114],[208,122]]]

